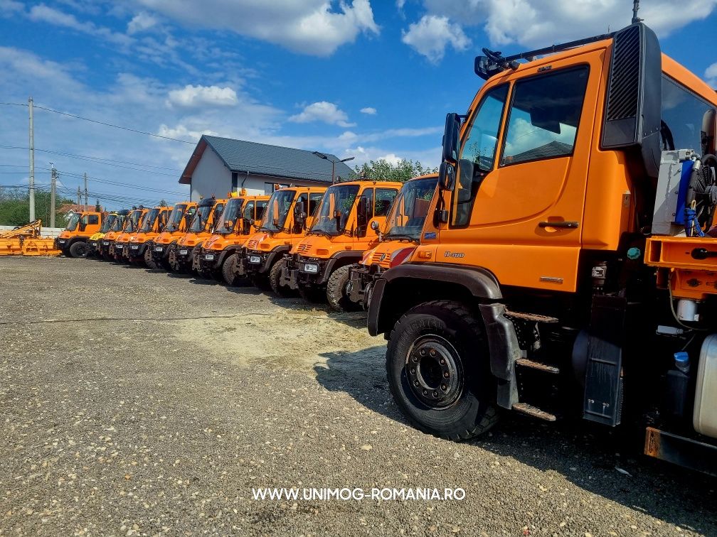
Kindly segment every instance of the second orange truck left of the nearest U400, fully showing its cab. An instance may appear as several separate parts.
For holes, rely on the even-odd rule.
[[[351,265],[379,242],[391,203],[402,183],[351,181],[326,189],[315,221],[282,266],[280,284],[305,299],[326,294],[334,309],[351,308]]]

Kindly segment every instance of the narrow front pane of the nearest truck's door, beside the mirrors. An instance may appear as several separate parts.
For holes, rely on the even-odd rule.
[[[452,195],[452,226],[466,226],[480,181],[493,170],[498,131],[503,118],[508,84],[491,89],[480,101],[467,131],[460,155],[460,176]]]

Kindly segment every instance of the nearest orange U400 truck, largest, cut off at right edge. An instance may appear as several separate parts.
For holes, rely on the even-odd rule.
[[[421,244],[371,296],[399,409],[452,440],[572,414],[717,473],[717,93],[639,19],[483,52]]]

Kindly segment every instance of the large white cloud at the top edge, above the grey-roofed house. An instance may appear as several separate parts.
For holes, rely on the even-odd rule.
[[[148,9],[187,26],[227,29],[278,44],[295,52],[328,56],[360,33],[379,34],[369,0],[341,1],[332,11],[327,0],[138,0]]]

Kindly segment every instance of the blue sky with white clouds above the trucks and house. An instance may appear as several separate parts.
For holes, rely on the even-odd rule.
[[[642,0],[663,50],[717,86],[717,0]],[[627,0],[0,0],[0,102],[196,142],[202,132],[437,165],[473,57],[618,29]],[[700,39],[700,41],[698,41]],[[27,107],[0,105],[0,185],[27,183]],[[110,208],[186,198],[191,143],[36,109],[37,183]],[[6,147],[21,147],[9,149]],[[42,151],[40,151],[42,150]],[[54,153],[49,153],[54,152]],[[90,157],[90,158],[87,158]]]

